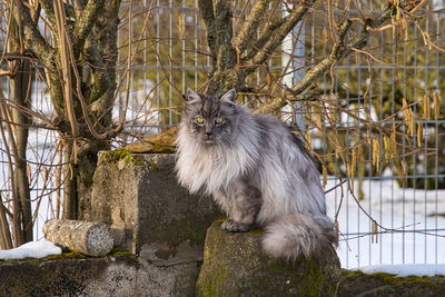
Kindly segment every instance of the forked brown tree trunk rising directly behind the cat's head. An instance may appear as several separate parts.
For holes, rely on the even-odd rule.
[[[200,0],[199,11],[206,23],[207,42],[212,57],[212,71],[206,92],[220,93],[230,88],[244,90],[248,75],[267,62],[315,1],[296,4],[286,18],[267,26],[255,41],[255,32],[260,17],[266,13],[268,1],[257,1],[244,26],[234,36],[230,1]]]

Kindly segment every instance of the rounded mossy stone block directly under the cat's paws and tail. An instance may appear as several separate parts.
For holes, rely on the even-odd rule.
[[[197,296],[335,296],[340,264],[323,259],[273,259],[260,247],[263,231],[230,234],[221,220],[207,231]]]

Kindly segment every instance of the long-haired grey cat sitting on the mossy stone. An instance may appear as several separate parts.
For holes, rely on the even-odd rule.
[[[254,116],[220,97],[187,89],[178,132],[177,172],[190,192],[211,194],[231,232],[266,227],[273,257],[318,257],[336,245],[319,172],[301,141],[273,116]]]

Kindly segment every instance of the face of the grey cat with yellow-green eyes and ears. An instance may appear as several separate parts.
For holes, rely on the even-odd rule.
[[[181,121],[197,140],[207,146],[227,143],[238,121],[235,100],[234,89],[220,97],[198,95],[187,89]]]

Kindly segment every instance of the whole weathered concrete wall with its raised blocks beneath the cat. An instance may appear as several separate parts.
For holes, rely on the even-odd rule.
[[[396,278],[339,273],[328,261],[275,261],[260,249],[260,230],[228,234],[217,207],[190,196],[174,172],[174,155],[103,151],[93,177],[92,221],[111,226],[130,253],[107,257],[63,254],[46,259],[0,260],[0,296],[441,296],[445,278]],[[206,257],[202,265],[202,250]],[[335,276],[335,277],[334,277]],[[259,281],[259,283],[258,283]],[[259,290],[259,286],[264,286]],[[335,289],[335,291],[334,291]]]

